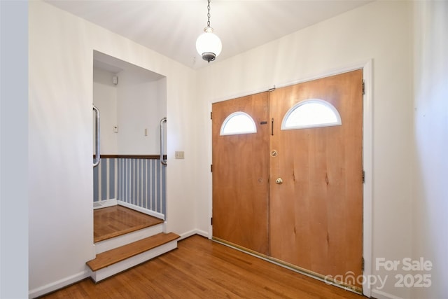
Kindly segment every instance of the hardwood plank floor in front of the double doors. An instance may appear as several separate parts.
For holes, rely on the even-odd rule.
[[[178,249],[94,284],[43,298],[364,298],[194,235]]]

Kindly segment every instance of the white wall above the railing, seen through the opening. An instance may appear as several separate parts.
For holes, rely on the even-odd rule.
[[[113,84],[113,76],[118,78],[118,85]],[[154,77],[141,69],[113,73],[94,67],[93,102],[101,116],[103,155],[160,152],[160,119],[167,115],[167,85],[165,78]],[[116,126],[118,132],[114,132]]]

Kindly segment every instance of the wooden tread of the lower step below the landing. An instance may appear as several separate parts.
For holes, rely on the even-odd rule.
[[[118,263],[132,256],[137,256],[139,253],[154,249],[157,246],[166,244],[168,242],[178,239],[180,236],[174,232],[160,232],[152,237],[141,239],[137,242],[127,244],[103,253],[97,254],[97,258],[89,260],[87,265],[92,271],[100,270],[115,263]]]

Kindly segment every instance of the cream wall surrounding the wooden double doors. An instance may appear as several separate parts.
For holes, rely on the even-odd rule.
[[[225,46],[225,45],[224,45]],[[409,297],[375,258],[401,260],[412,252],[412,3],[376,1],[199,71],[197,127],[204,181],[197,225],[209,230],[211,102],[267,90],[360,62],[373,62],[372,274],[389,277],[372,295]]]

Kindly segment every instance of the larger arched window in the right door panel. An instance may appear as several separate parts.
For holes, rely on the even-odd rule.
[[[281,130],[342,125],[335,106],[323,99],[306,99],[291,107],[283,117]]]

